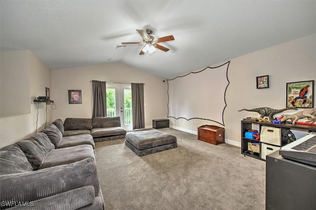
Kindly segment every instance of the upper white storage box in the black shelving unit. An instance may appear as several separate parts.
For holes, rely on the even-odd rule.
[[[281,146],[281,128],[261,126],[260,142]]]

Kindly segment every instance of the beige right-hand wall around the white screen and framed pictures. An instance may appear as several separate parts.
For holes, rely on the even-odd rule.
[[[226,91],[227,107],[224,112],[227,143],[240,146],[240,120],[260,116],[255,112],[238,112],[238,110],[264,106],[275,109],[285,108],[286,83],[316,80],[315,40],[316,34],[313,34],[231,59],[228,69],[230,85]],[[256,77],[263,75],[270,75],[270,88],[256,89]],[[314,100],[316,100],[315,96]],[[314,102],[314,106],[315,104]],[[286,112],[291,113],[291,111]],[[171,127],[191,133],[197,133],[197,127],[204,124],[222,126],[209,120],[187,121],[172,118],[170,124]]]

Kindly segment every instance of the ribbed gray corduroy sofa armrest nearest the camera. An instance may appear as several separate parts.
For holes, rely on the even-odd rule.
[[[93,186],[94,194],[100,190],[93,159],[33,172],[0,176],[0,209],[3,202],[32,202],[83,186]]]

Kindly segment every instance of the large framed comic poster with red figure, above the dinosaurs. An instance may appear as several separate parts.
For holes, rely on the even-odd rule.
[[[286,83],[286,107],[313,108],[314,80]]]

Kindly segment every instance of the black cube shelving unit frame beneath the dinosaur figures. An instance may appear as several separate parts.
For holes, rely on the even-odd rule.
[[[281,124],[275,124],[275,123],[272,123],[272,122],[259,122],[259,121],[255,121],[255,120],[241,120],[241,154],[243,154],[245,156],[254,157],[254,158],[257,158],[257,159],[260,159],[260,160],[263,160],[263,161],[265,161],[265,159],[261,158],[261,156],[260,156],[261,148],[262,148],[261,147],[262,143],[260,142],[260,140],[259,140],[260,153],[255,153],[255,152],[252,152],[252,151],[248,150],[248,142],[255,142],[255,140],[246,138],[245,137],[245,132],[247,132],[248,130],[251,130],[253,124],[259,125],[259,130],[258,130],[259,133],[260,133],[262,125],[269,126],[269,127],[280,128],[281,129],[281,133],[285,133],[285,130],[287,128],[293,129],[293,130],[306,130],[308,132],[316,131],[316,126],[315,125],[303,125],[303,124],[293,125],[292,123],[287,123],[287,122],[286,123],[281,123]],[[278,147],[280,147],[280,146],[278,146]]]

